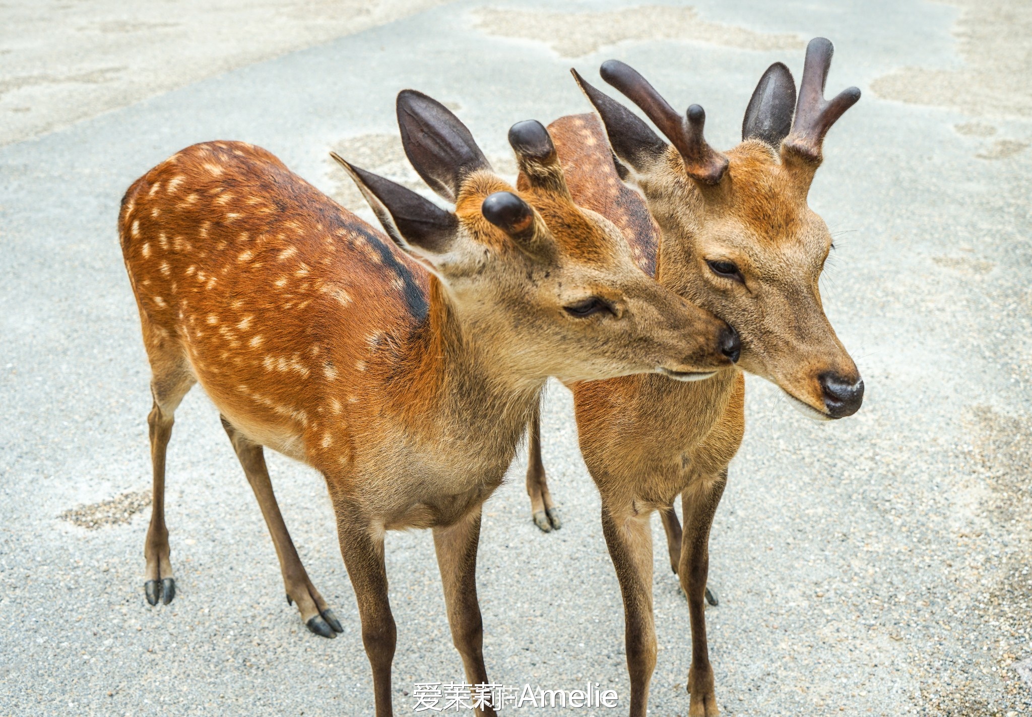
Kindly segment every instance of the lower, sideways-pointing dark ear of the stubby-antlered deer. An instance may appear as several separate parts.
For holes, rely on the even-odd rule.
[[[400,184],[353,166],[334,152],[330,156],[355,181],[384,231],[402,250],[430,260],[448,253],[458,232],[454,214]]]

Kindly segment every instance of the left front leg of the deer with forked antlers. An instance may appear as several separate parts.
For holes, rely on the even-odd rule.
[[[630,506],[627,506],[630,508]],[[645,717],[648,686],[655,668],[652,618],[652,533],[647,515],[630,509],[614,517],[603,502],[602,532],[623,595],[624,644],[631,676],[631,717]]]

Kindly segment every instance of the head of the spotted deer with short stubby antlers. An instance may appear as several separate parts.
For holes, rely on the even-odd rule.
[[[517,191],[440,102],[405,90],[397,118],[409,160],[454,211],[334,158],[390,238],[436,277],[466,335],[506,347],[493,355],[511,363],[498,370],[566,381],[643,372],[691,380],[737,358],[738,339],[723,321],[643,274],[616,227],[573,202],[543,125],[520,122],[509,132],[529,178]]]

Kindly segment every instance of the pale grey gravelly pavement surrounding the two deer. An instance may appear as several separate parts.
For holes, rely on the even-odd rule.
[[[199,391],[169,451],[178,596],[143,600],[149,508],[127,516],[139,497],[120,498],[150,488],[149,372],[115,232],[133,179],[214,138],[262,145],[330,192],[341,185],[326,152],[341,143],[385,147],[385,170],[404,174],[384,139],[402,87],[451,102],[504,157],[513,122],[584,112],[566,70],[593,76],[609,57],[678,106],[703,103],[711,142],[728,147],[763,69],[785,60],[798,74],[802,43],[821,34],[838,49],[829,87],[865,92],[831,132],[811,204],[836,232],[823,290],[868,394],[856,416],[818,425],[748,382],[746,439],[712,536],[717,696],[735,716],[1032,715],[1015,668],[1032,658],[1030,90],[1018,85],[1026,94],[1008,103],[1000,88],[1013,83],[991,81],[1030,76],[1027,6],[700,0],[647,14],[586,0],[573,9],[593,14],[531,2],[512,22],[497,8],[515,3],[483,6],[437,7],[0,149],[0,714],[370,709],[320,477],[269,457],[301,557],[344,625],[335,641],[308,633],[284,601],[261,516]],[[20,35],[4,20],[11,3],[0,13],[3,53]],[[973,21],[993,38],[977,57],[963,39]],[[68,62],[57,69],[73,74]],[[931,74],[978,92],[940,107],[899,80]],[[969,96],[993,103],[957,99]],[[486,506],[488,666],[513,685],[599,682],[625,710],[619,593],[559,386],[544,431],[565,527],[530,523],[518,461]],[[63,520],[69,509],[103,527]],[[662,545],[658,522],[654,535]],[[387,556],[406,713],[413,683],[459,679],[461,665],[429,535],[391,534]],[[684,715],[688,618],[666,563],[656,551],[651,711]]]

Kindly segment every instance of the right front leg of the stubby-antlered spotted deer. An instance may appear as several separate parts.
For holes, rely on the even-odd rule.
[[[480,516],[478,506],[455,525],[433,529],[433,547],[445,588],[452,642],[462,656],[465,679],[472,685],[488,684],[487,668],[484,666],[484,627],[477,600]],[[485,707],[478,709],[477,714],[493,717],[495,712],[492,707]]]

